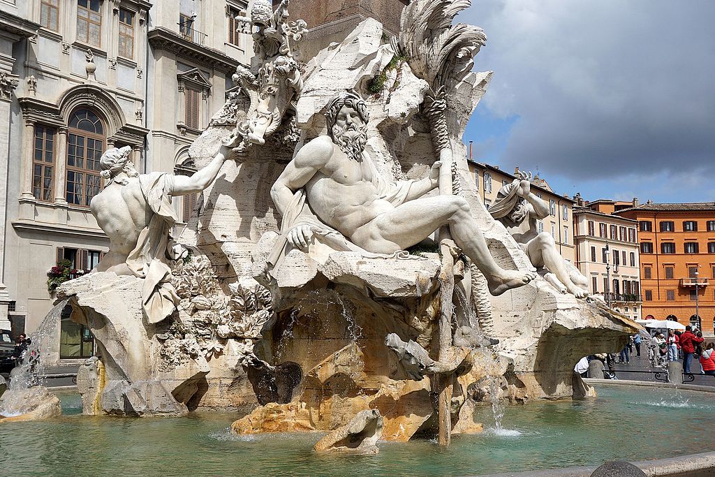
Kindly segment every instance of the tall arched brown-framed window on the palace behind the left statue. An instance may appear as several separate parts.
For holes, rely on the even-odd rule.
[[[67,202],[89,207],[102,189],[99,159],[104,151],[104,124],[89,109],[77,109],[69,119],[67,139]]]

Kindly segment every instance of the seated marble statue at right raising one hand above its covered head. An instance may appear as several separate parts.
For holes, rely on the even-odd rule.
[[[563,260],[551,234],[538,232],[536,220],[545,219],[550,211],[546,201],[531,192],[531,172],[519,172],[517,179],[504,185],[489,212],[507,228],[534,267],[555,275],[547,277],[552,285],[577,298],[588,296],[586,277]]]

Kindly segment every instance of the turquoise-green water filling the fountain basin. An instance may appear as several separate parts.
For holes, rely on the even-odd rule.
[[[649,459],[715,450],[713,394],[598,386],[599,397],[506,407],[495,433],[489,406],[477,411],[485,433],[453,439],[381,443],[377,456],[317,455],[313,435],[232,436],[231,413],[188,418],[79,415],[61,395],[61,418],[0,424],[0,474],[27,476],[431,476],[475,475],[609,459]]]

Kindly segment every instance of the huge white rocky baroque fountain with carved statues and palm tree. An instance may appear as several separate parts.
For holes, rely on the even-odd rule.
[[[468,4],[414,0],[398,36],[368,19],[302,64],[305,22],[255,1],[237,17],[255,56],[189,150],[199,172],[104,154],[110,252],[58,292],[99,348],[83,413],[248,406],[235,433],[371,453],[380,433],[478,432],[480,400],[593,393],[574,365],[637,325],[554,285],[480,202],[462,138],[492,73],[472,71],[483,31],[453,23]],[[174,240],[171,197],[198,191]]]

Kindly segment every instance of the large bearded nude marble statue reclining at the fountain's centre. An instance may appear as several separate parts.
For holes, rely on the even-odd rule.
[[[423,180],[390,183],[380,176],[365,152],[369,117],[359,94],[337,94],[326,117],[328,135],[305,144],[271,189],[283,216],[277,248],[287,242],[307,250],[315,232],[337,231],[368,252],[390,255],[449,225],[457,245],[487,278],[492,295],[536,277],[497,265],[462,197],[423,197],[438,187],[440,161]],[[317,216],[312,220],[306,217],[311,212]]]

